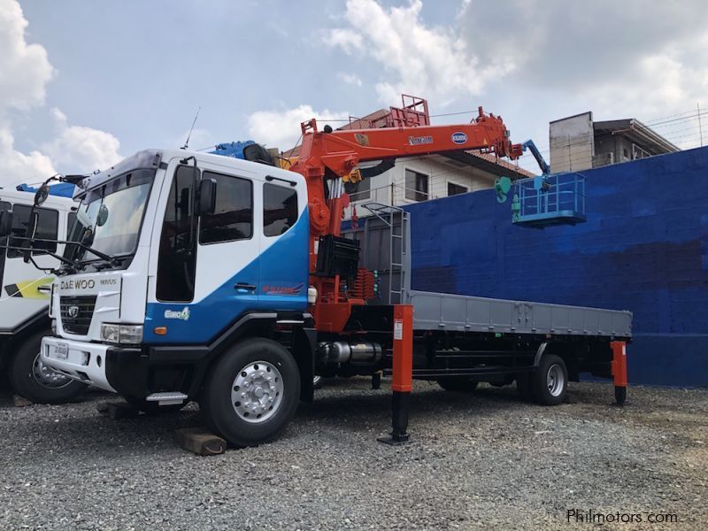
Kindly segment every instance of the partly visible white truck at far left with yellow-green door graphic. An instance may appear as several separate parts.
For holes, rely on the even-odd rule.
[[[35,194],[14,189],[0,189],[0,212],[14,213],[12,236],[27,236],[29,214]],[[49,196],[37,207],[37,238],[64,240],[75,217],[70,197]],[[42,266],[56,267],[57,258],[47,254],[63,252],[63,244],[38,242],[33,258]],[[51,282],[54,276],[42,273],[23,260],[19,250],[0,245],[0,374],[6,374],[12,389],[35,403],[59,404],[70,400],[86,386],[65,374],[56,373],[39,356],[44,335],[50,335],[48,314]]]

